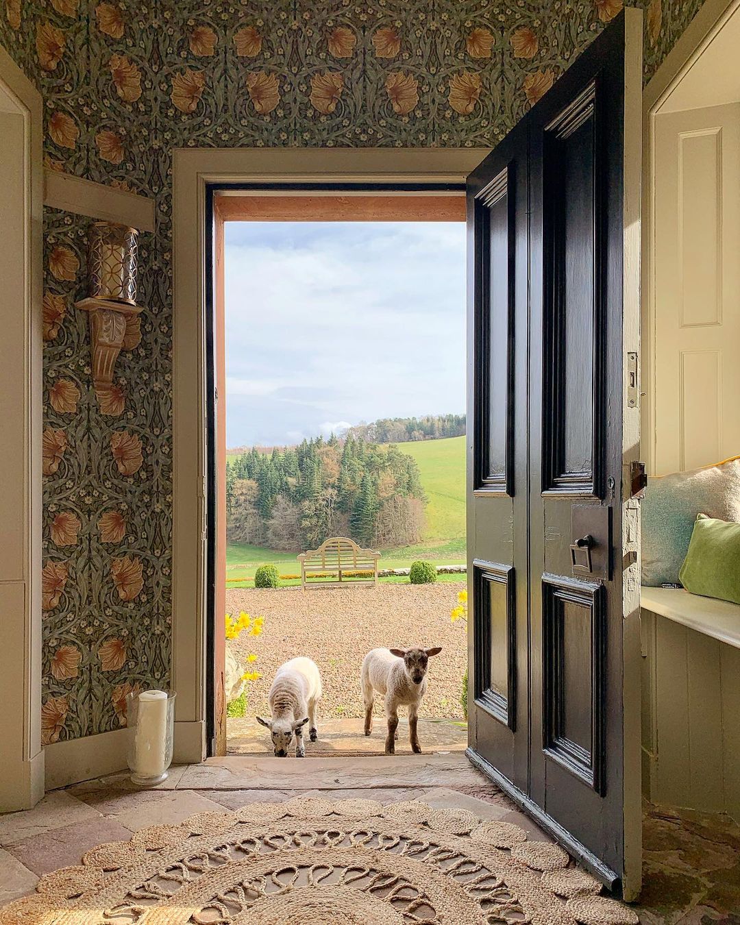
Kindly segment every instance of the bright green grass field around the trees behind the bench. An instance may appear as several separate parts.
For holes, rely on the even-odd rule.
[[[465,438],[418,440],[398,443],[399,450],[416,460],[428,499],[422,542],[400,549],[384,549],[380,567],[408,568],[415,559],[429,559],[438,565],[460,565],[465,561]],[[228,457],[231,459],[232,457]],[[294,552],[275,552],[246,543],[229,543],[226,549],[228,586],[247,587],[258,565],[273,562],[281,574],[299,573]],[[439,575],[439,580],[456,579]],[[382,581],[408,581],[381,579]],[[290,583],[286,583],[290,584]]]

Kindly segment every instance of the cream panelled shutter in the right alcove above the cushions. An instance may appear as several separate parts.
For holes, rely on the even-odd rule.
[[[655,165],[651,474],[664,475],[740,453],[740,103],[659,114]]]

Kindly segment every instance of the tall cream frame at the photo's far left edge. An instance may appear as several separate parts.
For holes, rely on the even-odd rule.
[[[22,120],[21,178],[11,187],[22,228],[11,231],[0,266],[4,354],[0,408],[6,423],[6,485],[0,499],[0,737],[4,773],[0,811],[28,809],[43,796],[42,680],[42,293],[43,293],[43,102],[18,65],[0,47],[0,109]],[[9,289],[8,289],[9,287]],[[18,301],[16,301],[16,298]]]

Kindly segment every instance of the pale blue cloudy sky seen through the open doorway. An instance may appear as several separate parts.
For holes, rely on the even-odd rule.
[[[464,239],[450,222],[228,222],[228,446],[462,413]]]

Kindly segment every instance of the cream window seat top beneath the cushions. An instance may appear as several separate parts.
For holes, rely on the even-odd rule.
[[[658,613],[697,633],[740,648],[739,604],[702,598],[676,587],[643,587],[640,603],[643,610]]]

